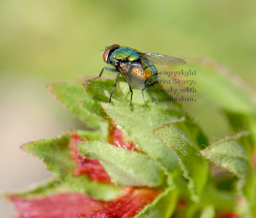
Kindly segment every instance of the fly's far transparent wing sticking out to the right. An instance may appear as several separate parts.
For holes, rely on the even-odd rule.
[[[186,62],[178,57],[168,56],[157,53],[140,53],[140,55],[146,58],[153,64],[157,65],[183,65]]]

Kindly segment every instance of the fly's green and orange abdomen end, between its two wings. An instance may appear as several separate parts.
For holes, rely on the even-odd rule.
[[[151,86],[153,83],[157,81],[157,69],[148,60],[142,60],[141,66],[144,71],[145,86]]]

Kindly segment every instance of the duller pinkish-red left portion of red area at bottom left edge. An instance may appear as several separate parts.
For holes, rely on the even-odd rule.
[[[90,215],[104,206],[104,202],[81,193],[56,194],[33,200],[14,196],[11,201],[16,205],[17,218],[75,218],[81,213]]]

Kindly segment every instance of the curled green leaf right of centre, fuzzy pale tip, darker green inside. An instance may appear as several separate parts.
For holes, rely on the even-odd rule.
[[[194,129],[191,129],[192,126]],[[208,165],[199,152],[198,130],[195,125],[182,119],[153,129],[153,134],[175,151],[183,175],[189,181],[191,198],[198,202],[208,176]]]

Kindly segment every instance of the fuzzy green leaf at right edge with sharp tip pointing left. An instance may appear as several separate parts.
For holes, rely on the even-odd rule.
[[[243,133],[227,137],[202,150],[201,153],[208,160],[234,173],[239,179],[238,190],[243,189],[248,199],[253,199],[255,172],[244,148],[236,141],[241,136]]]

